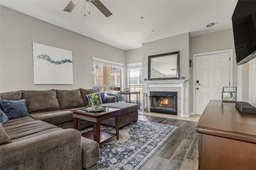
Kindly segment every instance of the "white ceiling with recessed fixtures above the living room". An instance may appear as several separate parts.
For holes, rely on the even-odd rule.
[[[64,12],[70,0],[0,0],[2,6],[80,33],[119,49],[142,47],[142,43],[182,33],[202,35],[232,28],[238,0],[101,0],[112,12],[106,18],[96,7],[86,11],[80,0]],[[143,16],[144,19],[140,19]],[[207,28],[206,24],[214,23]],[[152,29],[157,31],[152,32]]]

